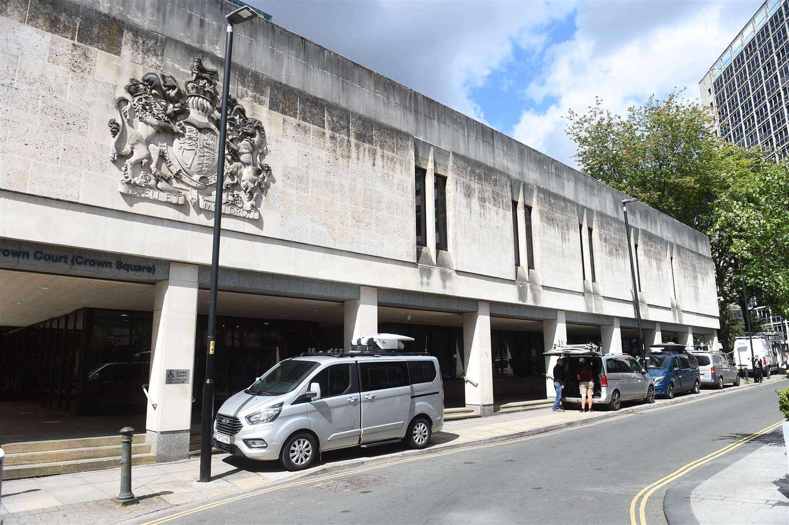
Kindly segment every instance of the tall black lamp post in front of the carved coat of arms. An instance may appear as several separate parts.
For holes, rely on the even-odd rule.
[[[214,248],[211,253],[211,300],[208,306],[208,353],[205,356],[205,383],[203,384],[203,429],[200,442],[200,482],[211,481],[211,448],[213,448],[214,422],[214,351],[216,340],[216,288],[219,281],[219,238],[222,234],[222,183],[225,175],[225,148],[227,137],[227,98],[230,92],[230,59],[233,54],[233,26],[255,18],[249,6],[236,9],[227,15],[225,43],[225,69],[222,77],[222,113],[219,119],[219,160],[216,168],[214,197]]]

